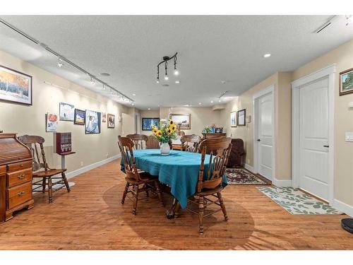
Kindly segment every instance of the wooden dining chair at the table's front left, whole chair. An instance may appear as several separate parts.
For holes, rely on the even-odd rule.
[[[160,199],[161,205],[164,206],[162,189],[160,188],[160,182],[158,181],[158,178],[148,174],[148,172],[138,170],[136,167],[135,158],[133,157],[133,141],[127,137],[118,136],[118,145],[121,152],[121,159],[124,163],[124,171],[126,174],[126,185],[123,193],[123,198],[121,199],[121,204],[124,204],[126,195],[128,193],[133,194],[132,213],[134,216],[136,216],[138,194],[144,191],[148,196],[148,191],[154,192],[155,189],[155,192]]]

